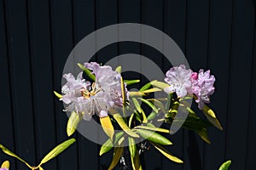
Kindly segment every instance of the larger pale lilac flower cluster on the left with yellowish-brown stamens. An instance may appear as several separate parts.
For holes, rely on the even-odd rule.
[[[100,117],[108,116],[110,108],[123,105],[121,76],[108,65],[101,66],[91,62],[84,63],[84,66],[92,71],[96,82],[86,81],[83,72],[80,72],[77,78],[71,73],[65,74],[63,77],[67,83],[61,88],[64,94],[61,100],[68,105],[66,111],[76,111],[82,114],[86,121],[90,121],[94,114]],[[125,96],[128,98],[126,88]]]

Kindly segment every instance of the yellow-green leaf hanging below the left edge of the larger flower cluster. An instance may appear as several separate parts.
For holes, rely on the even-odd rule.
[[[67,122],[67,136],[71,136],[76,131],[81,120],[81,117],[75,111],[71,113]]]

